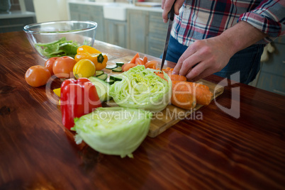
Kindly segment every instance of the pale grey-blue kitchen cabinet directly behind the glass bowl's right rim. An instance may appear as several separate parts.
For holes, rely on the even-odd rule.
[[[94,21],[96,28],[96,40],[105,41],[105,24],[103,6],[69,3],[69,16],[75,21]]]

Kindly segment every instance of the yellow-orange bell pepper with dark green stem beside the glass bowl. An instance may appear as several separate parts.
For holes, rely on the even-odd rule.
[[[74,59],[77,62],[83,59],[91,60],[91,62],[94,63],[96,70],[104,69],[108,62],[108,57],[106,54],[89,45],[82,45],[78,47],[77,55],[75,55]]]

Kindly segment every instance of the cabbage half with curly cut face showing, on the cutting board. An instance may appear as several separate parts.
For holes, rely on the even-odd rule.
[[[138,65],[120,74],[123,79],[111,85],[109,95],[118,106],[143,108],[148,111],[162,111],[172,95],[172,82],[164,73],[164,78],[155,74],[155,69],[145,69]]]

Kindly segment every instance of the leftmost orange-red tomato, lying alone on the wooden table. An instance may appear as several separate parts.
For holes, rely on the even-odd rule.
[[[41,65],[35,65],[26,71],[25,79],[26,82],[33,87],[43,86],[47,84],[48,79],[50,79],[50,71]]]

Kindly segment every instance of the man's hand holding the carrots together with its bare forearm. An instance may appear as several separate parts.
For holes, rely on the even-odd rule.
[[[174,74],[196,81],[219,72],[236,52],[262,40],[267,35],[241,21],[222,34],[189,45],[174,67]]]

